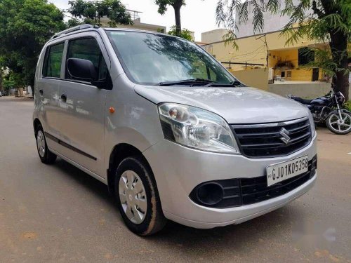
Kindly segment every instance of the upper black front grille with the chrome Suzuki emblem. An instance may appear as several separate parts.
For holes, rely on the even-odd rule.
[[[251,158],[286,156],[306,147],[312,139],[310,121],[307,117],[282,123],[243,124],[231,127],[237,137],[241,153]],[[285,140],[282,133],[287,135]]]

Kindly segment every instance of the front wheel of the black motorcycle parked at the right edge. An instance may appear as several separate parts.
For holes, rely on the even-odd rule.
[[[351,115],[341,112],[341,119],[337,112],[330,114],[326,119],[326,126],[332,133],[345,135],[351,131]]]

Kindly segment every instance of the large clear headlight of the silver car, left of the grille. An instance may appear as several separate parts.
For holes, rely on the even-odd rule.
[[[187,147],[224,154],[239,154],[227,122],[217,114],[183,104],[159,105],[164,137]]]

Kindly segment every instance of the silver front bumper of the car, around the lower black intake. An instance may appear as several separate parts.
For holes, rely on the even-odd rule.
[[[175,222],[196,228],[213,228],[239,224],[280,208],[305,194],[314,184],[317,173],[288,193],[251,205],[235,208],[208,208],[194,203],[189,194],[201,182],[265,175],[273,163],[317,154],[316,135],[305,148],[289,156],[249,159],[241,155],[197,151],[162,140],[143,153],[149,161],[157,182],[164,215]]]

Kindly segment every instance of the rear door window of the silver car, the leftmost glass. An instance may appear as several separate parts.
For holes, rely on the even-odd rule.
[[[49,46],[46,51],[43,75],[47,77],[60,78],[62,53],[65,43]]]

